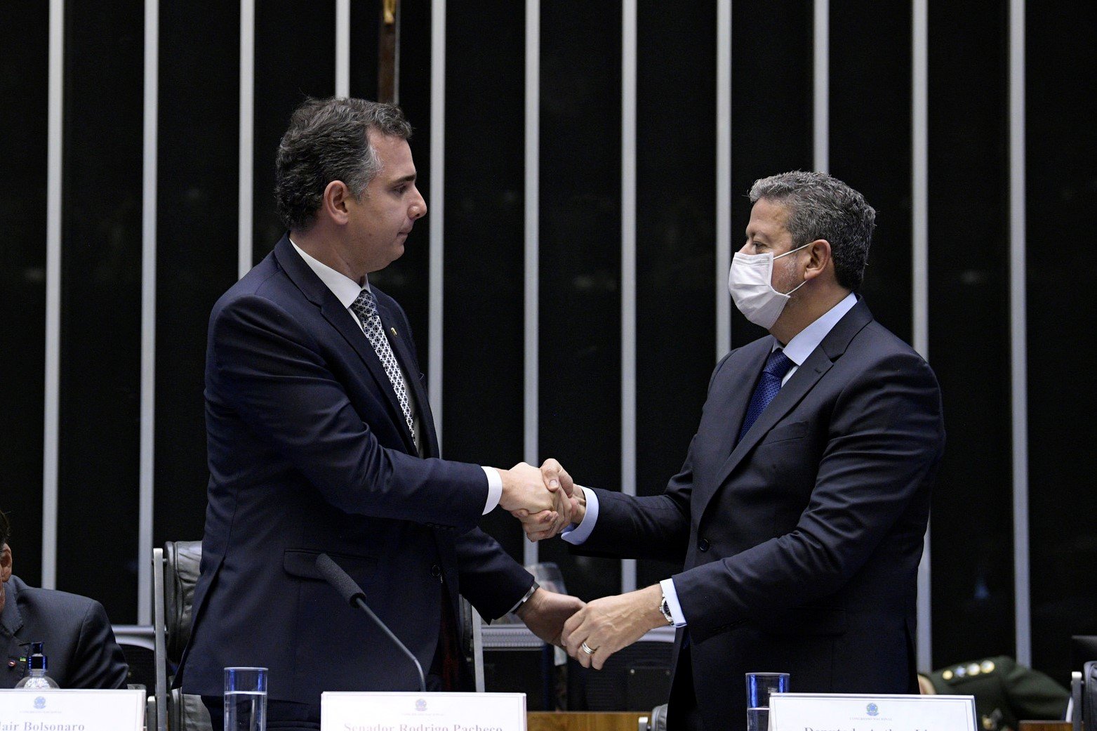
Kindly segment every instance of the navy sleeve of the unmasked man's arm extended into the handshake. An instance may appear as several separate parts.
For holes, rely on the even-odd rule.
[[[328,503],[346,513],[463,530],[479,520],[487,497],[483,469],[384,448],[312,334],[275,303],[241,297],[216,311],[210,327],[218,396]]]

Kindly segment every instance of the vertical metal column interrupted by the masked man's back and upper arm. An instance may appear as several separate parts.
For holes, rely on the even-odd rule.
[[[914,349],[929,358],[929,0],[911,7],[911,241]],[[929,529],[918,564],[918,671],[932,670]]]

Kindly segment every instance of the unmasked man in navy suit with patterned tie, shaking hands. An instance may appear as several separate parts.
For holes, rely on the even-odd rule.
[[[427,213],[410,133],[387,104],[298,108],[276,161],[289,233],[210,317],[208,507],[181,674],[215,727],[228,665],[270,668],[278,728],[319,728],[324,690],[418,688],[410,661],[321,580],[320,553],[361,585],[430,689],[470,687],[453,652],[459,593],[487,618],[518,607],[547,641],[583,606],[539,589],[476,528],[496,505],[566,518],[566,494],[530,465],[439,459],[407,317],[366,280]]]

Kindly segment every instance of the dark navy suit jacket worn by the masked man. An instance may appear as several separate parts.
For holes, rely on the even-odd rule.
[[[682,471],[659,496],[598,491],[576,549],[683,562],[671,727],[692,684],[704,728],[744,728],[747,672],[789,672],[793,691],[917,693],[937,380],[858,302],[736,445],[772,345],[720,362]]]

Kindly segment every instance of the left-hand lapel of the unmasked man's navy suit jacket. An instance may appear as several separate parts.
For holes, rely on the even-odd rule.
[[[411,432],[408,431],[407,421],[404,420],[404,409],[400,408],[400,402],[396,398],[396,392],[388,380],[388,373],[385,372],[385,367],[382,366],[381,359],[374,352],[373,346],[370,345],[370,339],[365,336],[365,333],[354,322],[351,314],[347,312],[347,307],[343,307],[342,303],[331,293],[328,285],[320,281],[320,278],[308,268],[308,265],[301,258],[301,255],[294,250],[289,236],[283,236],[275,245],[274,256],[278,258],[278,262],[285,273],[293,280],[293,283],[297,285],[309,302],[320,308],[320,314],[324,315],[324,318],[342,335],[343,339],[347,340],[359,358],[362,359],[362,362],[365,363],[365,367],[373,375],[373,380],[376,381],[381,393],[388,401],[392,419],[404,435],[404,446],[411,454],[415,454],[417,451],[415,440],[411,437]],[[384,318],[382,318],[382,323],[384,323]]]

